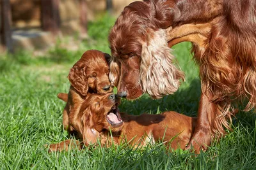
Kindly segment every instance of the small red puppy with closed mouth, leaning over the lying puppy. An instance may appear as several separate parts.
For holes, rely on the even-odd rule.
[[[88,50],[70,69],[68,80],[70,89],[67,94],[60,93],[58,97],[66,101],[63,110],[63,127],[69,132],[83,129],[79,110],[89,94],[107,94],[113,89],[108,74],[110,55],[98,50]]]

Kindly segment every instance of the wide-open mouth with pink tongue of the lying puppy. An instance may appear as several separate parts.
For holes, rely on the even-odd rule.
[[[117,105],[118,104],[116,103],[107,115],[107,120],[109,124],[111,124],[113,127],[118,127],[123,124],[123,120],[120,116],[120,112]]]

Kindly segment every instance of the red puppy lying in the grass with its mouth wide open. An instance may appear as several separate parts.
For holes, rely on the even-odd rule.
[[[102,146],[129,145],[144,146],[147,143],[163,141],[171,148],[185,149],[193,134],[196,118],[166,111],[159,115],[140,116],[120,113],[115,94],[100,96],[92,94],[81,106],[79,120],[83,129],[79,131],[82,143],[67,140],[49,146],[49,152],[67,150],[78,145],[88,146],[100,141]]]

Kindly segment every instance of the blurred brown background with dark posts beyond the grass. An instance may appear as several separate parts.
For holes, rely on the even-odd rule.
[[[88,22],[116,17],[132,0],[1,0],[1,51],[42,49],[56,37],[88,37]]]

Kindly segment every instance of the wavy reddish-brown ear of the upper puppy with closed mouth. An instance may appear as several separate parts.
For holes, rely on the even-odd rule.
[[[72,67],[68,74],[68,80],[81,95],[86,96],[88,92],[88,84],[84,67]]]

